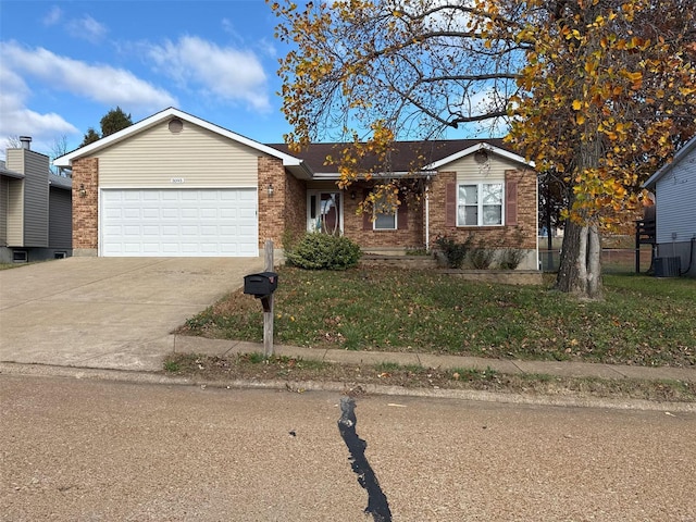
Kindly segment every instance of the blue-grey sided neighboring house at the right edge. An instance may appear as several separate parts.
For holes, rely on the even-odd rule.
[[[696,136],[644,187],[655,194],[656,275],[696,277]]]

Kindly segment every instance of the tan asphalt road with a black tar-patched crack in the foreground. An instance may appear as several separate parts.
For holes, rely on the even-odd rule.
[[[0,375],[0,520],[696,521],[695,413],[340,399]]]

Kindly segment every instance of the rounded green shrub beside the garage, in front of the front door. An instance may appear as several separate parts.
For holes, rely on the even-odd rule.
[[[306,270],[346,270],[358,264],[360,247],[343,236],[308,233],[289,251],[288,264]]]

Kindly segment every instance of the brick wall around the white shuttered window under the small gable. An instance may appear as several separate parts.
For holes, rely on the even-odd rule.
[[[446,216],[447,184],[456,183],[456,172],[440,172],[431,185],[431,247],[437,235],[448,235],[463,243],[470,234],[474,243],[482,239],[489,246],[536,249],[536,173],[531,170],[506,171],[506,184],[518,183],[517,225],[448,226]]]

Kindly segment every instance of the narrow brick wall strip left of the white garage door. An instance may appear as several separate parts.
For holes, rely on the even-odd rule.
[[[84,186],[85,196],[80,195]],[[73,163],[73,250],[97,253],[99,247],[99,159]]]

